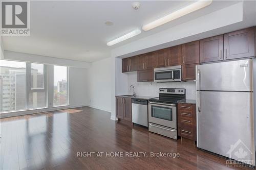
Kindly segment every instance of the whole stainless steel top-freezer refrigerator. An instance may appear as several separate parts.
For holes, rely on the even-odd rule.
[[[253,72],[253,59],[196,67],[198,148],[255,165]]]

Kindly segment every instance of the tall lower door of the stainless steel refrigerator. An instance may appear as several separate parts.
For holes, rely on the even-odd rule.
[[[197,147],[255,165],[252,92],[197,92]]]

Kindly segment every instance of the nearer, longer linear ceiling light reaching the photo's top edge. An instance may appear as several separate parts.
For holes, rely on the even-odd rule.
[[[179,18],[181,16],[184,16],[186,14],[189,14],[191,12],[197,11],[197,10],[199,10],[201,8],[204,8],[204,7],[208,6],[208,5],[210,5],[211,2],[212,2],[212,0],[210,0],[210,1],[204,1],[204,0],[197,1],[197,2],[195,2],[193,4],[190,4],[190,5],[188,5],[188,6],[184,7],[184,8],[181,8],[181,9],[179,9],[179,10],[173,12],[173,13],[170,13],[170,14],[164,16],[164,17],[161,17],[161,18],[159,18],[159,19],[157,19],[157,20],[155,20],[153,22],[150,22],[147,25],[144,25],[142,27],[142,29],[144,31],[151,30],[153,28],[156,28],[158,26],[163,25],[164,23],[167,23],[169,21],[177,19],[177,18]]]

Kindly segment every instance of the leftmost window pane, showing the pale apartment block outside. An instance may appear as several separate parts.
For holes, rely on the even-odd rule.
[[[0,111],[26,109],[26,63],[0,60]]]

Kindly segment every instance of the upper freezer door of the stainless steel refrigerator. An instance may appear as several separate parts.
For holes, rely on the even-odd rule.
[[[197,65],[197,90],[253,91],[252,60]]]

